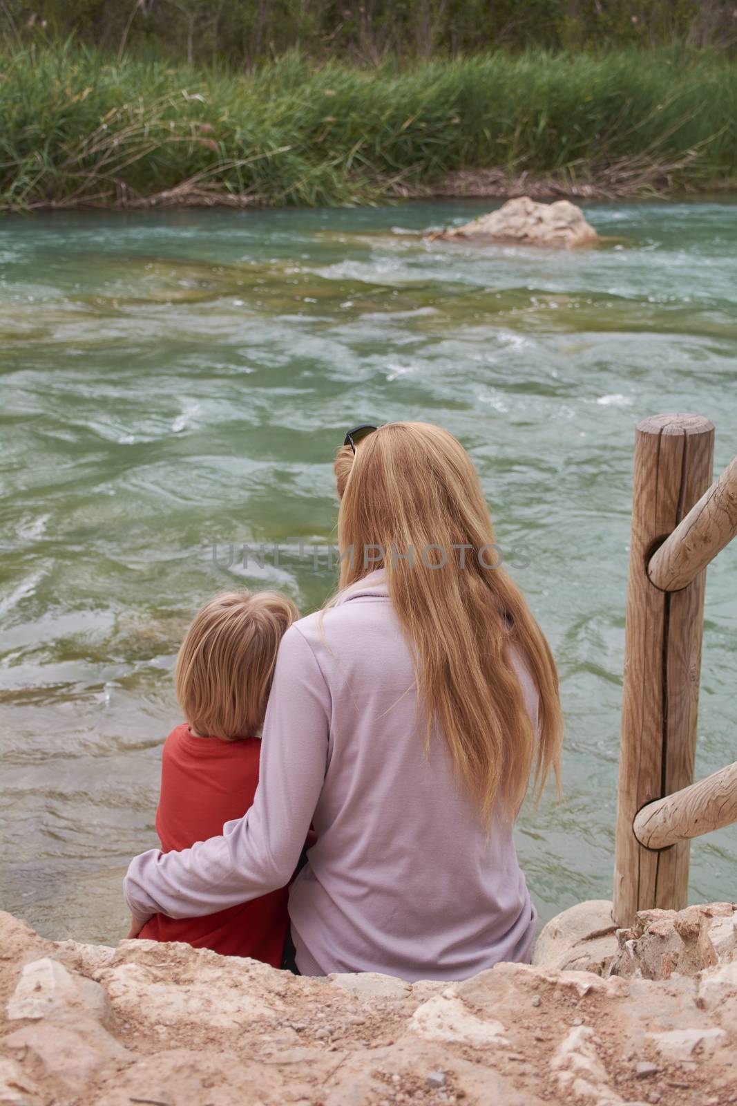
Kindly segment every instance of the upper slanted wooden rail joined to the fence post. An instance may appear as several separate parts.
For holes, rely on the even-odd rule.
[[[655,587],[677,592],[737,534],[737,457],[650,559]]]

